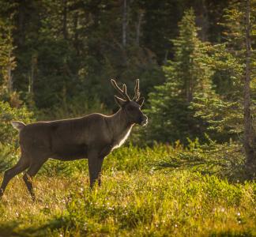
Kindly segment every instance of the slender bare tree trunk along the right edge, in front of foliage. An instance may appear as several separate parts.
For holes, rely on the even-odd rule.
[[[254,149],[254,129],[252,124],[252,117],[250,114],[250,0],[247,0],[246,10],[246,75],[244,81],[244,141],[243,147],[246,153],[246,169],[247,175],[252,178],[255,173],[256,159]]]

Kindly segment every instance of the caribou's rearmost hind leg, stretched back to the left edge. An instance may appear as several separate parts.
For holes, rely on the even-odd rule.
[[[29,166],[29,160],[26,156],[21,155],[20,160],[17,162],[16,165],[14,165],[9,170],[5,171],[4,178],[2,180],[2,185],[0,187],[0,198],[2,198],[2,195],[4,194],[6,190],[6,186],[8,185],[9,181],[13,179],[15,175],[20,174],[22,171],[24,171]]]

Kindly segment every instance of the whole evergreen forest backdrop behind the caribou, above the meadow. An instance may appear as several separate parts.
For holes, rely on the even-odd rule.
[[[149,126],[134,136],[136,144],[249,139],[243,114],[247,67],[247,118],[254,114],[254,1],[249,23],[247,1],[0,4],[0,99],[10,107],[26,107],[36,120],[111,114],[118,107],[110,78],[130,92],[140,78]]]

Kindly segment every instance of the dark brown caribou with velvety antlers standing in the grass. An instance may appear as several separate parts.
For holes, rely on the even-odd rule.
[[[28,125],[12,122],[13,127],[19,131],[21,158],[5,172],[0,197],[10,179],[28,169],[23,179],[35,200],[32,178],[49,158],[63,161],[88,159],[90,186],[96,180],[100,185],[104,157],[122,145],[134,124],[145,126],[148,121],[147,116],[141,112],[144,98],[140,97],[139,80],[136,81],[133,100],[127,95],[126,85],[119,88],[115,80],[111,80],[111,84],[121,96],[115,96],[120,109],[114,115],[91,114],[76,119],[34,122]]]

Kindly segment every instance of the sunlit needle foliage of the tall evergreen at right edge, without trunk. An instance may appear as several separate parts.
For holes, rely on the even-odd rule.
[[[213,81],[220,96],[214,100],[197,98],[193,103],[196,116],[209,123],[209,130],[216,130],[222,137],[227,134],[243,135],[243,85],[245,77],[245,28],[246,6],[235,2],[224,12],[224,43],[208,47],[209,57],[205,63],[214,71]],[[252,35],[255,18],[252,17]],[[254,54],[255,55],[255,54]],[[254,60],[252,60],[252,64]],[[253,69],[253,67],[252,67]],[[251,71],[251,111],[255,113],[255,70]],[[255,122],[255,121],[254,121]]]

